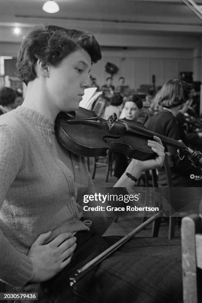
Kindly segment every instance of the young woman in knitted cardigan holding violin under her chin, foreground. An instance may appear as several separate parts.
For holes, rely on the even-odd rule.
[[[87,32],[45,25],[23,39],[17,66],[27,94],[0,116],[1,287],[37,292],[43,303],[182,302],[175,240],[133,239],[84,276],[76,291],[69,286],[75,265],[118,239],[101,237],[111,218],[92,218],[90,227],[81,220],[77,192],[92,193],[93,184],[84,158],[65,150],[54,133],[58,113],[78,108],[99,59],[100,46]],[[163,163],[160,139],[148,146],[156,158],[133,159],[127,171],[135,178]],[[124,174],[115,187],[133,185]]]

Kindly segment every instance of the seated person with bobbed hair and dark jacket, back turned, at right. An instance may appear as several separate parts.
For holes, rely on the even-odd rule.
[[[159,135],[182,140],[188,145],[187,136],[184,132],[182,124],[177,119],[180,109],[189,98],[190,85],[179,79],[167,81],[158,92],[158,103],[162,106],[162,110],[150,117],[146,122],[146,127]],[[172,182],[174,187],[201,187],[202,182],[193,180],[190,175],[201,175],[202,169],[200,164],[193,165],[188,158],[180,160],[177,148],[167,147],[173,159]],[[166,185],[166,177],[164,170],[159,172],[159,183]]]

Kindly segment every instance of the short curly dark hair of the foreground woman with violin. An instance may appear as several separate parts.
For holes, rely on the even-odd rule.
[[[90,32],[66,29],[57,25],[36,26],[21,44],[18,58],[18,77],[27,85],[37,75],[35,65],[38,59],[57,66],[73,51],[86,50],[92,63],[101,59],[100,45]]]

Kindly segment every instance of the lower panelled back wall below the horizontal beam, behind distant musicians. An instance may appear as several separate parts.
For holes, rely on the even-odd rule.
[[[167,80],[179,77],[181,71],[193,72],[193,50],[103,50],[102,60],[92,67],[92,75],[101,86],[109,76],[105,64],[112,62],[119,67],[113,84],[118,84],[120,76],[126,78],[131,88],[140,84],[152,84],[152,75],[156,76],[156,86],[162,86]]]

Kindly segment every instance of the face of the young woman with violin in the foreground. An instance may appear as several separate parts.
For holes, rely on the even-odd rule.
[[[83,49],[65,57],[58,66],[48,66],[48,97],[57,111],[73,111],[79,106],[84,89],[90,87],[91,57]]]

